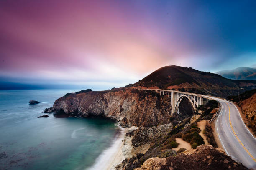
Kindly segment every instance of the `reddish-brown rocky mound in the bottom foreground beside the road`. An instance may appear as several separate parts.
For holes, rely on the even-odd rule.
[[[134,170],[247,170],[236,163],[224,150],[211,145],[200,145],[197,149],[184,151],[167,158],[149,158]]]

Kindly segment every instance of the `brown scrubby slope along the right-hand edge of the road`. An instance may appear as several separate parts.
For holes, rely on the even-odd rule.
[[[243,115],[245,115],[248,121],[248,127],[252,129],[254,135],[256,135],[256,89],[247,91],[237,96],[228,97],[241,107]]]

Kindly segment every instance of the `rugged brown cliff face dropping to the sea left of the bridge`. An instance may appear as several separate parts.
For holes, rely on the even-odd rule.
[[[81,117],[110,117],[123,126],[163,125],[172,116],[171,102],[154,91],[136,89],[69,94],[56,100],[52,110]]]

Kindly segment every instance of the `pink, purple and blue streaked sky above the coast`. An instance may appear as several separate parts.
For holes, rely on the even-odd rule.
[[[122,87],[166,65],[256,67],[256,1],[1,0],[0,78]]]

